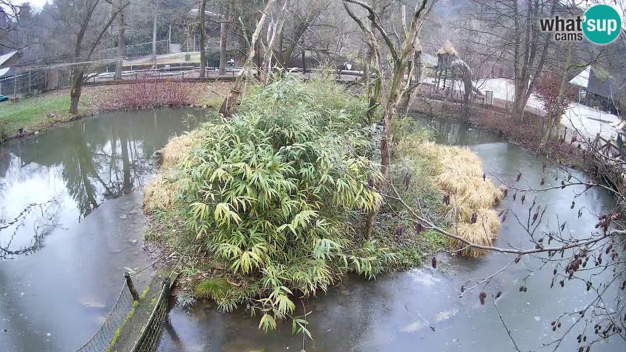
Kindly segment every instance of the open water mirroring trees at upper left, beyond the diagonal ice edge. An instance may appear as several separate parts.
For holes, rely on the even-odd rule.
[[[1,148],[0,259],[31,254],[59,225],[141,189],[155,150],[204,119],[203,111],[190,112],[94,116]]]

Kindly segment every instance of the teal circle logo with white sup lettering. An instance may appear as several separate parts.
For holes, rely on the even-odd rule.
[[[622,19],[615,9],[608,5],[595,5],[587,10],[583,32],[587,39],[596,44],[611,43],[622,30]]]

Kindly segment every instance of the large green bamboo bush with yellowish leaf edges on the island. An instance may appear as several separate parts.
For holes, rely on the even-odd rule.
[[[260,277],[264,329],[290,316],[294,294],[347,271],[374,276],[393,259],[376,242],[356,246],[347,222],[381,202],[367,186],[381,179],[367,158],[372,130],[311,91],[292,78],[267,86],[227,123],[203,125],[180,165],[188,226],[233,272]]]

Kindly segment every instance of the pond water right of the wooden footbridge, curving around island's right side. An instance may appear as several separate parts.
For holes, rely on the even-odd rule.
[[[419,120],[432,128],[438,143],[465,145],[485,160],[485,168],[498,177],[514,180],[518,169],[525,172],[523,185],[538,186],[541,177],[558,173],[548,163],[541,172],[543,158],[526,152],[500,137],[463,123],[450,120]],[[577,177],[585,175],[575,172]],[[560,182],[560,181],[559,181]],[[550,183],[548,181],[548,183]],[[570,210],[573,192],[581,189],[567,188],[538,195],[537,202],[548,206],[548,221],[554,228],[558,220],[568,222],[573,235],[583,236],[594,230],[597,218],[611,209],[613,200],[603,190],[591,189],[577,198],[577,207]],[[496,209],[511,208],[518,214],[528,213],[528,202],[534,195],[526,196],[521,205],[518,195],[511,195]],[[578,209],[585,212],[577,219]],[[495,246],[532,247],[528,235],[510,215],[503,224]],[[558,284],[550,289],[552,269],[533,272],[540,261],[527,257],[516,266],[506,269],[483,290],[490,298],[485,306],[478,300],[478,291],[459,298],[459,288],[469,279],[481,279],[497,271],[513,257],[492,253],[481,259],[453,257],[449,271],[418,268],[407,272],[392,272],[367,281],[349,277],[338,289],[331,289],[319,298],[302,303],[309,315],[309,329],[314,341],[306,339],[304,349],[312,351],[515,351],[491,295],[503,292],[498,303],[503,319],[521,351],[535,349],[561,336],[572,324],[572,317],[562,318],[563,327],[552,332],[550,322],[562,313],[583,308],[592,295],[582,282],[568,281],[565,289]],[[528,277],[527,292],[519,292],[522,280]],[[597,277],[596,279],[597,280]],[[610,292],[608,298],[615,298]],[[607,302],[612,304],[612,302]],[[225,314],[216,311],[213,303],[198,303],[189,309],[174,308],[165,324],[159,351],[300,351],[302,336],[292,336],[290,321],[279,324],[275,333],[258,329],[259,317],[250,317],[244,309]],[[304,309],[299,304],[297,315]],[[574,328],[563,340],[562,351],[578,349],[576,336],[582,326]],[[589,336],[593,329],[587,330]],[[626,344],[619,337],[594,344],[592,351],[624,351]],[[549,348],[548,350],[552,350]]]

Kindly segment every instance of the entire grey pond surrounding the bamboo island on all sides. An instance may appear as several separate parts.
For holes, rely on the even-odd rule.
[[[190,115],[191,114],[191,115]],[[100,327],[115,301],[126,268],[144,267],[155,256],[141,245],[145,217],[141,187],[153,176],[155,150],[204,119],[200,110],[105,113],[69,123],[0,149],[0,350],[73,351]],[[419,119],[438,143],[467,145],[485,167],[505,179],[538,185],[541,163],[534,154],[497,135],[449,120]],[[557,168],[548,163],[545,174]],[[585,177],[582,173],[576,173]],[[550,177],[546,177],[550,180]],[[550,224],[567,220],[572,233],[593,230],[595,217],[612,208],[606,192],[591,189],[570,210],[574,189],[540,194]],[[528,195],[528,199],[531,199]],[[525,210],[508,197],[498,209]],[[586,207],[580,219],[577,212]],[[566,210],[567,209],[567,210]],[[16,221],[14,221],[17,219]],[[530,244],[510,217],[495,246]],[[448,269],[392,272],[375,281],[349,277],[337,289],[303,301],[314,342],[306,351],[511,351],[513,345],[491,301],[478,291],[459,298],[467,279],[482,278],[511,260],[504,254],[469,260],[451,257]],[[535,272],[528,292],[520,280],[536,268],[527,258],[506,269],[485,291],[503,291],[503,319],[522,350],[554,338],[550,321],[582,308],[590,299],[582,282],[550,289],[552,268]],[[150,278],[146,271],[137,286]],[[159,351],[300,351],[302,336],[290,322],[275,333],[258,329],[259,317],[241,308],[220,313],[213,303],[173,308]],[[299,313],[303,311],[298,307]],[[571,324],[562,319],[564,327]],[[564,329],[559,331],[563,332]],[[577,348],[574,329],[563,350]],[[611,339],[595,350],[623,351]]]

